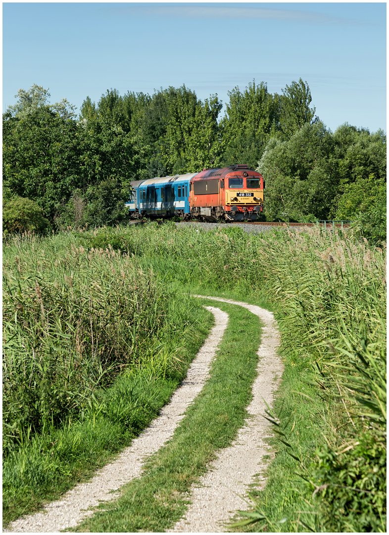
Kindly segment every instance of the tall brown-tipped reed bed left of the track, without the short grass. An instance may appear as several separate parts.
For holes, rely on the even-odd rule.
[[[169,295],[151,271],[108,245],[16,238],[3,254],[3,450],[81,414],[98,387],[153,358],[177,363]]]

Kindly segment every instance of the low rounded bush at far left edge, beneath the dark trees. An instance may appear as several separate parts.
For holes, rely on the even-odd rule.
[[[3,232],[43,232],[49,221],[35,201],[17,195],[3,198]]]

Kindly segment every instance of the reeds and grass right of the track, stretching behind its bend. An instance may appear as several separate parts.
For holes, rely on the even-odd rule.
[[[285,375],[269,418],[282,434],[268,485],[253,494],[252,529],[385,531],[385,247],[352,230],[253,236],[169,224],[121,239],[172,284],[262,296],[279,310]]]

